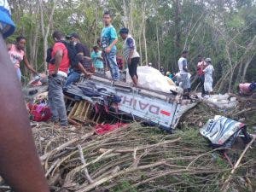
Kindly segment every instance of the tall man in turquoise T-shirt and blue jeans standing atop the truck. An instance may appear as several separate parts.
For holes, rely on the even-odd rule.
[[[107,11],[103,15],[103,22],[105,27],[102,29],[101,45],[102,49],[106,54],[108,65],[113,80],[119,80],[119,67],[116,62],[116,46],[118,41],[117,33],[115,28],[111,24],[111,15]]]

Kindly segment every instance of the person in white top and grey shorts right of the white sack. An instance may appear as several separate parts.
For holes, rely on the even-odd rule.
[[[180,74],[180,86],[183,88],[184,95],[189,95],[190,92],[189,69],[187,61],[188,54],[188,50],[183,50],[181,57],[177,61]]]

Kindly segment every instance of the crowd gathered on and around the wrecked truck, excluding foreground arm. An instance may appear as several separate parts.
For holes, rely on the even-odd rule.
[[[121,28],[119,36],[123,40],[122,55],[117,54],[116,44],[118,35],[112,25],[112,16],[107,11],[103,15],[104,27],[102,28],[101,38],[97,39],[97,44],[93,46],[92,51],[81,43],[79,34],[73,32],[65,36],[60,31],[55,31],[52,38],[55,43],[47,50],[46,61],[48,63],[49,73],[49,107],[53,114],[52,120],[60,123],[61,126],[67,126],[67,113],[64,103],[63,90],[67,90],[70,84],[79,81],[81,74],[90,76],[93,73],[105,74],[109,69],[114,81],[120,80],[119,70],[128,67],[134,86],[138,84],[137,65],[140,61],[140,55],[137,52],[135,39],[132,38],[128,28]],[[18,79],[21,80],[20,61],[24,61],[26,67],[37,74],[26,58],[25,52],[26,38],[20,36],[16,38],[15,44],[8,44],[10,59],[15,66]],[[187,50],[182,52],[177,61],[179,72],[175,75],[167,72],[164,67],[160,67],[160,73],[167,75],[171,79],[177,79],[177,85],[183,88],[184,96],[189,96],[191,90],[190,74],[188,69]],[[212,92],[212,73],[214,71],[211,59],[204,59],[198,56],[197,74],[201,81],[202,96]],[[148,63],[152,67],[151,63]]]

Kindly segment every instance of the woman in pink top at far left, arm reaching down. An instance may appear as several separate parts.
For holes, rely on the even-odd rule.
[[[15,44],[8,44],[8,53],[10,56],[10,60],[15,66],[16,73],[18,76],[18,79],[21,81],[21,72],[20,72],[20,62],[24,61],[25,66],[32,71],[32,73],[37,74],[36,70],[30,65],[29,61],[26,57],[26,51],[25,51],[25,44],[26,44],[26,38],[23,36],[19,36],[16,38]]]

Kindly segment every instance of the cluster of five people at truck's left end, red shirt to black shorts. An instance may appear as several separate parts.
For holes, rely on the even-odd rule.
[[[55,44],[49,49],[49,56],[47,56],[49,62],[49,107],[53,114],[52,120],[55,123],[59,121],[63,127],[67,126],[63,87],[65,91],[69,84],[79,81],[81,73],[86,76],[95,72],[101,74],[105,73],[108,68],[113,80],[120,79],[120,66],[116,57],[118,36],[111,20],[110,13],[105,12],[101,38],[98,39],[97,45],[93,47],[91,53],[87,46],[79,41],[77,33],[65,37],[62,32],[55,31],[52,35]],[[128,65],[134,85],[137,86],[137,64],[140,56],[136,50],[135,40],[131,37],[127,28],[122,28],[119,34],[124,40],[123,55],[125,63]],[[65,38],[69,41],[68,43]],[[93,66],[91,66],[91,62]]]

